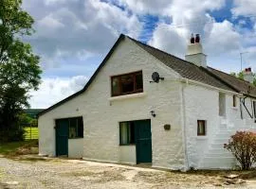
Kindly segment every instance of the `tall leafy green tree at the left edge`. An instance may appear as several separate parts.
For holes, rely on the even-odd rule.
[[[39,57],[22,39],[34,30],[22,0],[0,1],[0,141],[20,138],[19,115],[29,107],[30,90],[40,83]]]

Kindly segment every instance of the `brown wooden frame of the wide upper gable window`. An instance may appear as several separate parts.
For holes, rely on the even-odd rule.
[[[137,77],[137,75],[141,75],[142,89],[136,89],[136,86],[137,86],[136,77]],[[127,92],[127,93],[122,92],[121,77],[124,77],[124,76],[133,76],[134,91]],[[119,94],[114,94],[113,93],[113,84],[112,83],[113,83],[113,79],[115,79],[115,78],[119,79]],[[142,71],[137,71],[137,72],[132,72],[132,73],[127,73],[127,74],[122,74],[122,75],[111,77],[111,96],[119,96],[119,95],[126,95],[126,94],[138,94],[138,93],[143,93],[143,75],[142,75]]]

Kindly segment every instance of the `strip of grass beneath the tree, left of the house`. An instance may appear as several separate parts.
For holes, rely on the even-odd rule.
[[[38,147],[38,140],[0,143],[0,154],[4,156],[15,155],[20,149],[29,149],[31,147]]]

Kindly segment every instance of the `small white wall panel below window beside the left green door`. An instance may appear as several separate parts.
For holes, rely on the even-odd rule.
[[[82,158],[83,139],[68,139],[68,157]]]

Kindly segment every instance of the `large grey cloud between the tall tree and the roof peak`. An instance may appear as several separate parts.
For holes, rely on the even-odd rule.
[[[100,0],[27,0],[24,8],[36,19],[36,33],[27,41],[44,68],[65,57],[106,53],[120,33],[137,38],[142,28],[136,15]]]

